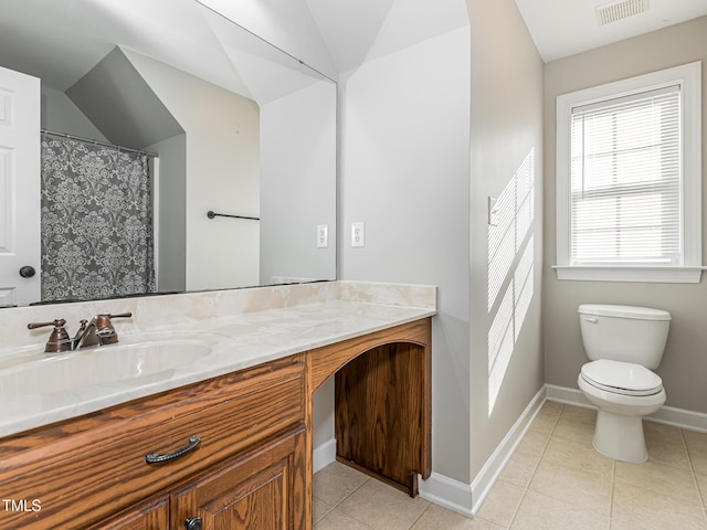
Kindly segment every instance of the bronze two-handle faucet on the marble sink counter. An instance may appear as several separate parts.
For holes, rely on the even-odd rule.
[[[66,331],[66,320],[63,318],[51,322],[31,322],[27,327],[29,329],[41,328],[43,326],[54,326],[52,335],[44,347],[44,351],[49,353],[60,353],[63,351],[73,351],[81,348],[92,346],[115,344],[118,341],[118,333],[115,332],[112,318],[131,317],[131,312],[122,312],[118,315],[99,314],[88,320],[82,320],[76,335],[71,338]]]

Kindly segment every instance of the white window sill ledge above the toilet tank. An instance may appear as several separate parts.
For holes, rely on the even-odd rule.
[[[553,265],[557,279],[580,282],[650,282],[658,284],[699,284],[706,267],[637,267]]]

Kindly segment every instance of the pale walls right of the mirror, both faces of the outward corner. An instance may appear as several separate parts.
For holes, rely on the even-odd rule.
[[[345,279],[439,286],[432,466],[471,485],[544,384],[542,62],[513,0],[467,7],[471,31],[342,75],[340,252]]]

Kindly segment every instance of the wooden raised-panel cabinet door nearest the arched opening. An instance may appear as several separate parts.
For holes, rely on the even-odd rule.
[[[304,426],[225,460],[171,496],[172,530],[201,519],[203,530],[306,528]]]

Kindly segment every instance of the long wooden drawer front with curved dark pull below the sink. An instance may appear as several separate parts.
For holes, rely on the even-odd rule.
[[[118,407],[110,413],[113,421],[99,427],[3,457],[3,496],[41,501],[39,511],[4,512],[3,526],[83,528],[303,423],[304,373],[304,364],[291,363],[264,373],[217,378],[154,402],[133,403],[126,411]],[[183,456],[146,463],[147,454],[178,449],[192,435],[201,442]]]

